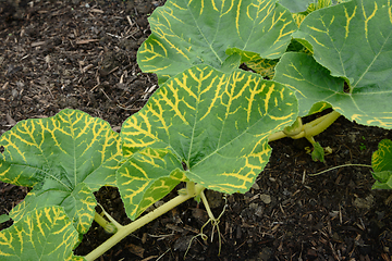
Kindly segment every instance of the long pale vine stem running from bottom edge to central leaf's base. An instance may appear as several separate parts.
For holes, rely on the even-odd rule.
[[[85,256],[85,260],[93,261],[102,256],[106,251],[112,248],[115,244],[121,241],[131,233],[135,232],[136,229],[143,227],[144,225],[148,224],[149,222],[154,221],[155,219],[159,217],[160,215],[164,214],[166,212],[174,209],[176,206],[185,202],[186,200],[198,196],[205,187],[198,184],[194,184],[188,182],[186,184],[186,192],[180,194],[175,198],[169,200],[164,204],[160,206],[159,208],[155,209],[154,211],[145,214],[144,216],[137,219],[136,221],[132,222],[128,225],[118,227],[118,232],[111,236],[108,240],[102,243],[99,247],[94,249],[87,256]]]

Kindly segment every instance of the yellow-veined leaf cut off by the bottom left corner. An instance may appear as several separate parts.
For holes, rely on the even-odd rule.
[[[63,208],[39,208],[0,232],[0,260],[84,260],[73,256],[77,241],[78,233]]]

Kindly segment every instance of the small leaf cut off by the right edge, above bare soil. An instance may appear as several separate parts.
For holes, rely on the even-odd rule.
[[[383,139],[371,157],[372,173],[376,183],[375,189],[392,189],[392,141]]]

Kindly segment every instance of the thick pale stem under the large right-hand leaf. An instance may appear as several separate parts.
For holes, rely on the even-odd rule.
[[[323,116],[314,120],[313,122],[304,124],[302,126],[302,132],[297,135],[287,136],[284,132],[278,132],[269,136],[268,141],[273,141],[285,137],[291,137],[293,139],[314,137],[326,130],[329,126],[331,126],[331,124],[334,123],[334,121],[336,121],[340,115],[341,114],[339,112],[332,111]]]

